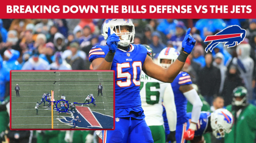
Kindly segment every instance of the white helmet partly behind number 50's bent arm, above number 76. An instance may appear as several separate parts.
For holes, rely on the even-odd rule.
[[[157,57],[158,65],[161,65],[164,68],[168,68],[171,64],[161,64],[162,59],[171,59],[171,63],[173,63],[179,55],[180,52],[177,51],[175,48],[164,48]]]

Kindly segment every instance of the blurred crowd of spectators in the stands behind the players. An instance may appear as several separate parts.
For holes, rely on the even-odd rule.
[[[134,44],[147,44],[154,58],[165,47],[182,49],[187,28],[196,46],[183,67],[208,104],[232,102],[232,91],[244,86],[248,101],[256,105],[256,19],[132,19]],[[9,93],[10,70],[91,70],[88,55],[105,45],[104,19],[0,19],[0,100]],[[230,25],[246,29],[240,45],[218,44],[205,52],[206,36]],[[220,97],[220,98],[217,98]],[[213,107],[212,107],[213,108]]]

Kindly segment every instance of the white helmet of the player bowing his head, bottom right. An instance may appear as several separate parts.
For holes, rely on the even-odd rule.
[[[230,133],[233,123],[233,115],[227,109],[219,108],[211,114],[211,127],[216,138],[223,138],[225,133]]]

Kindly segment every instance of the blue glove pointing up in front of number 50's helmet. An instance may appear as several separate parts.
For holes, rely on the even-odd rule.
[[[115,33],[110,35],[110,27],[108,27],[108,32],[107,32],[107,45],[109,48],[109,51],[112,53],[116,52],[116,49],[118,47],[118,42],[120,41],[119,37],[116,36]]]

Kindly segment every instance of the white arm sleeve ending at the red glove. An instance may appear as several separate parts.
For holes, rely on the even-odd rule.
[[[195,89],[183,93],[188,101],[193,105],[191,122],[197,123],[200,117],[202,101],[199,98]]]

